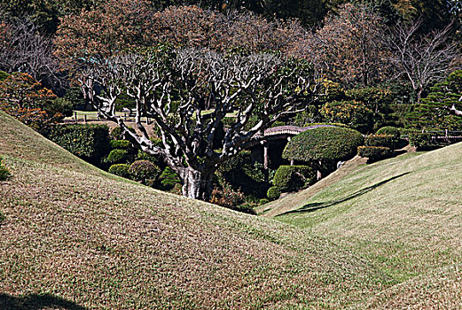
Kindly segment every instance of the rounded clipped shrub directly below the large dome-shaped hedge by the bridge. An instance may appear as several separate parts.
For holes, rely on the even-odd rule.
[[[280,166],[274,174],[273,185],[281,191],[295,191],[315,182],[316,171],[308,166]]]

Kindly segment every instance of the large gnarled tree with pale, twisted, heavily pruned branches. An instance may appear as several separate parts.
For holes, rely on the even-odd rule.
[[[151,50],[93,64],[82,74],[82,90],[133,143],[159,156],[180,176],[184,196],[207,199],[219,163],[261,142],[265,128],[301,111],[314,96],[315,76],[302,65],[270,54]],[[98,88],[104,92],[98,93]],[[115,113],[115,100],[122,92],[137,103],[141,135]],[[213,110],[206,112],[206,106]],[[236,117],[223,131],[222,120],[229,112]],[[153,119],[161,146],[150,140],[142,117]],[[251,118],[256,121],[248,128]]]

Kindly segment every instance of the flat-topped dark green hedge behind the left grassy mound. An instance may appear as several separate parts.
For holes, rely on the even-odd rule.
[[[99,163],[109,149],[109,128],[106,125],[56,125],[48,138],[74,155]]]

